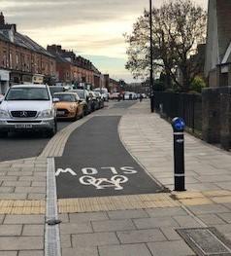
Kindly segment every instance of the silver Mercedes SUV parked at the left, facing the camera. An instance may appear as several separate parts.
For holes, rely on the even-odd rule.
[[[49,87],[18,85],[11,87],[0,104],[0,136],[9,131],[42,130],[56,133],[56,111]]]

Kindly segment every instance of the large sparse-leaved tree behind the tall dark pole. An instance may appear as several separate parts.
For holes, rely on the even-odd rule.
[[[128,43],[126,68],[135,78],[149,74],[149,18],[148,11],[137,19],[131,34],[125,34]],[[179,91],[189,91],[198,74],[190,56],[205,41],[206,12],[191,0],[173,0],[159,9],[152,9],[153,65],[155,72],[164,72],[168,84],[172,82]],[[181,71],[182,83],[177,70]]]

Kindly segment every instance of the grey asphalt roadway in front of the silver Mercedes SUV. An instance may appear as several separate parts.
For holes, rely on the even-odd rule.
[[[71,122],[58,122],[58,130]],[[37,157],[49,142],[39,132],[12,132],[7,138],[0,138],[0,162]]]

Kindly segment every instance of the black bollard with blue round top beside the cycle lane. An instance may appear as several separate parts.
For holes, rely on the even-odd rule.
[[[185,191],[184,177],[184,136],[185,123],[181,118],[172,120],[174,130],[174,180],[175,191]]]

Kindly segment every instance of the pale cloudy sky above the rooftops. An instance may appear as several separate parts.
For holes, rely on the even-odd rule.
[[[207,9],[208,0],[194,0]],[[148,0],[0,0],[0,11],[17,31],[47,48],[61,45],[112,78],[134,82],[124,68],[124,33],[148,9]],[[152,0],[159,7],[163,0]]]

